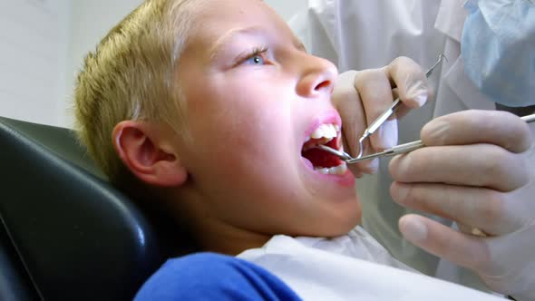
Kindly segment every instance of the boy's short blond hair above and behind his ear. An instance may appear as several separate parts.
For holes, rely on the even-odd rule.
[[[196,2],[145,1],[85,58],[74,92],[75,129],[112,181],[124,171],[112,145],[118,122],[162,121],[180,131],[184,102],[174,74]]]

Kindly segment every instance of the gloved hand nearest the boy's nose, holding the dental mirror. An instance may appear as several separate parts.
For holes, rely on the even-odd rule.
[[[397,86],[392,91],[392,86]],[[364,143],[364,154],[393,147],[397,143],[396,117],[402,117],[410,109],[419,108],[432,95],[425,74],[417,63],[406,57],[398,57],[380,69],[361,72],[348,71],[339,75],[332,100],[343,121],[344,149],[352,156],[359,152],[358,139],[368,124],[375,121],[399,95],[404,103],[394,118]],[[374,173],[378,160],[365,160],[348,166],[355,177]]]

